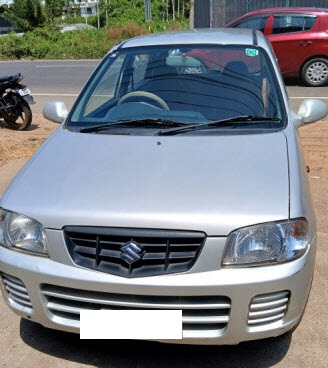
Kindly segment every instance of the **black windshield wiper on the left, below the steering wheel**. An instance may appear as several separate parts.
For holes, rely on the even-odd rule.
[[[80,133],[95,133],[102,130],[108,130],[111,128],[117,128],[118,126],[127,125],[131,127],[184,127],[186,123],[179,123],[173,120],[157,119],[157,118],[146,118],[146,119],[133,119],[133,120],[119,120],[114,123],[106,123],[99,125],[92,125],[89,127],[81,128]],[[188,125],[189,126],[189,125]]]

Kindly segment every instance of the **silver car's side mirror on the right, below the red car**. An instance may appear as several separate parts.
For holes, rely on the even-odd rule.
[[[328,106],[325,102],[314,98],[305,99],[297,113],[301,118],[299,125],[314,123],[323,119],[328,114]]]

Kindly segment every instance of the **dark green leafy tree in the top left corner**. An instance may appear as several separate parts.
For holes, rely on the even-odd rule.
[[[14,0],[3,18],[21,31],[30,31],[44,24],[41,0]]]

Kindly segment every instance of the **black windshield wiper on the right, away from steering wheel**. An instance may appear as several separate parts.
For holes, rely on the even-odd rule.
[[[259,124],[264,121],[281,122],[281,119],[267,118],[263,116],[249,116],[249,115],[236,116],[234,118],[211,121],[209,123],[190,124],[190,125],[185,125],[180,128],[160,130],[155,135],[175,135],[175,134],[180,134],[180,133],[185,133],[185,132],[190,132],[190,131],[195,131],[195,130],[217,128],[221,126],[235,126],[236,123],[242,123],[243,125],[244,124],[252,125],[252,124]]]

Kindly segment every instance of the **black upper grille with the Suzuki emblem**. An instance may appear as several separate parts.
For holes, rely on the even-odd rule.
[[[196,262],[205,234],[192,231],[65,227],[73,261],[124,277],[188,271]]]

